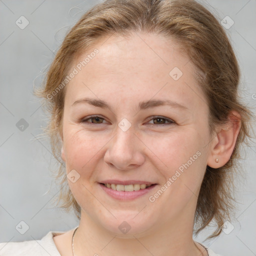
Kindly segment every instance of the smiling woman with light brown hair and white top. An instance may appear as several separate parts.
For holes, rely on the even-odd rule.
[[[79,225],[2,243],[1,255],[217,255],[192,234],[215,221],[215,237],[229,217],[248,136],[238,82],[225,32],[194,0],[95,5],[37,92],[65,165],[59,200]]]

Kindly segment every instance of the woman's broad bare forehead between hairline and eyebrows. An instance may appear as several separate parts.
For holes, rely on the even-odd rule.
[[[105,100],[113,94],[126,99],[155,95],[203,104],[196,102],[203,95],[194,78],[194,66],[184,52],[181,44],[161,35],[101,37],[73,62],[72,69],[78,72],[67,85],[67,100],[89,93]]]

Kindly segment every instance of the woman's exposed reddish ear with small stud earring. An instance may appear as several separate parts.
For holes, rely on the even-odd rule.
[[[233,152],[240,127],[241,115],[232,110],[228,115],[228,121],[219,127],[215,138],[212,140],[211,152],[207,159],[208,166],[219,168],[227,163]]]

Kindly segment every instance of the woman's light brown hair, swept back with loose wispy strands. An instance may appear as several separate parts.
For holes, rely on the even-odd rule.
[[[249,136],[250,111],[240,103],[238,63],[224,29],[211,12],[195,0],[105,0],[94,5],[68,31],[44,78],[43,86],[35,95],[43,98],[50,118],[46,133],[50,137],[52,153],[59,161],[54,176],[61,185],[57,203],[74,209],[80,219],[80,206],[73,197],[60,157],[62,117],[65,87],[59,87],[68,75],[73,60],[99,37],[129,35],[145,32],[166,36],[182,45],[194,65],[195,77],[209,106],[209,130],[213,134],[219,124],[225,123],[231,110],[240,115],[241,126],[232,155],[219,167],[206,167],[197,199],[194,232],[198,234],[211,221],[220,234],[221,226],[230,218],[234,196],[232,190],[236,159],[240,145]],[[59,89],[61,88],[61,89]],[[54,93],[55,92],[55,93]]]

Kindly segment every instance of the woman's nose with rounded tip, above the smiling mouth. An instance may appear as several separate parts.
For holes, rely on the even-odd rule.
[[[116,134],[107,145],[104,161],[111,167],[128,170],[139,167],[145,161],[144,144],[131,127],[126,131],[117,127]]]

